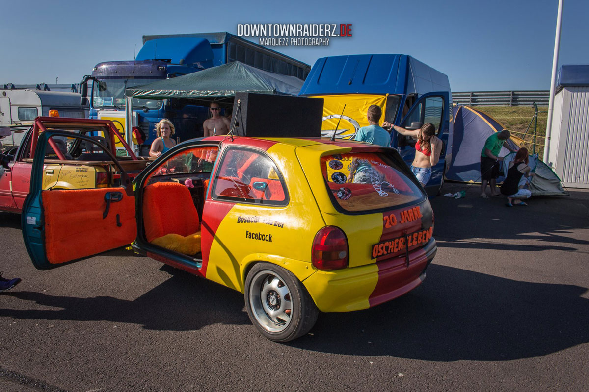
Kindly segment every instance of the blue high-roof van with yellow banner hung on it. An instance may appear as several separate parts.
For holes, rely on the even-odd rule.
[[[326,136],[335,132],[333,126],[325,126],[326,120],[341,118],[347,123],[342,122],[340,128],[349,130],[338,132],[337,136],[353,138],[362,123],[368,125],[366,110],[371,103],[383,109],[380,124],[386,120],[411,128],[412,122],[433,123],[444,148],[438,164],[432,167],[432,177],[425,189],[429,196],[439,193],[452,158],[452,93],[444,73],[408,55],[324,57],[313,65],[300,95],[320,96],[325,100]],[[415,140],[393,131],[391,146],[399,150],[408,165],[413,162]]]

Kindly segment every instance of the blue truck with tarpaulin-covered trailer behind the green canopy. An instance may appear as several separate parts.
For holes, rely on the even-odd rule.
[[[143,36],[143,46],[134,61],[108,61],[94,66],[91,75],[82,80],[82,96],[90,92],[90,118],[112,120],[125,133],[125,89],[233,61],[302,80],[310,71],[303,62],[226,32],[148,35]],[[140,155],[148,155],[151,142],[157,138],[155,125],[163,118],[174,123],[174,139],[203,136],[208,106],[208,102],[193,99],[134,98],[132,125],[146,136]]]

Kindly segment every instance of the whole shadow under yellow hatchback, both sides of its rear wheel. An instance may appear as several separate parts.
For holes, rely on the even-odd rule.
[[[163,268],[169,269],[170,279],[133,301],[14,291],[3,295],[56,309],[0,309],[0,314],[133,323],[170,331],[250,324],[242,294]],[[589,300],[581,297],[583,287],[521,282],[438,264],[432,264],[428,274],[435,279],[394,301],[350,313],[320,314],[311,334],[287,345],[343,355],[499,361],[544,356],[589,341]]]

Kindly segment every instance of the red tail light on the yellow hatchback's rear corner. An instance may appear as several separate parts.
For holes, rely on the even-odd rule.
[[[348,266],[348,239],[342,229],[325,226],[315,234],[311,262],[320,270],[336,270]]]

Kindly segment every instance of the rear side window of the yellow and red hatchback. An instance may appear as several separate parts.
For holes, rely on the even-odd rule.
[[[284,206],[288,195],[272,159],[249,149],[231,148],[214,176],[214,199]]]

